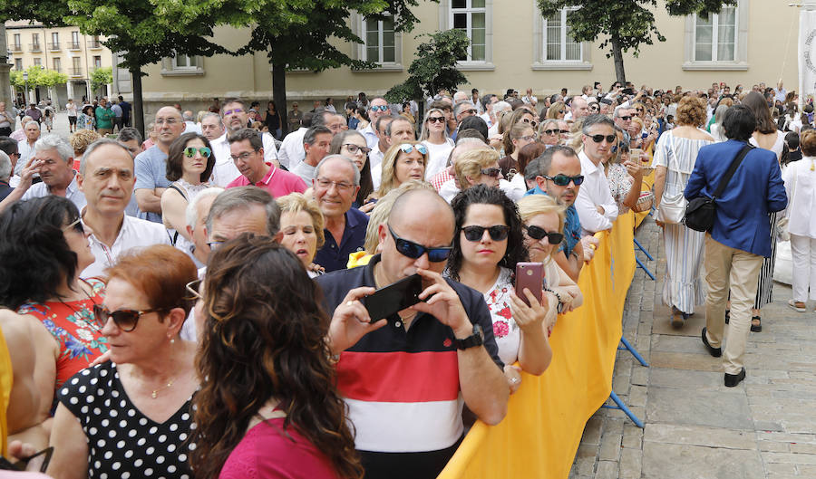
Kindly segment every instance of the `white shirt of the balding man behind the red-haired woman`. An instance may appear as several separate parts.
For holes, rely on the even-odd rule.
[[[146,247],[153,244],[170,244],[170,236],[167,234],[167,230],[164,229],[164,225],[160,223],[124,215],[121,228],[119,228],[119,235],[116,235],[112,248],[96,239],[94,235],[88,237],[88,242],[91,244],[91,253],[96,261],[80,273],[81,278],[101,276],[105,268],[116,263],[117,258],[131,248]]]

